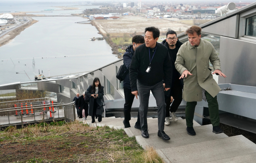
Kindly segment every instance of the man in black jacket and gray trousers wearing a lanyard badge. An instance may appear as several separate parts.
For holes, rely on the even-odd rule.
[[[140,96],[140,125],[142,137],[148,138],[148,102],[150,91],[156,99],[158,107],[158,137],[170,140],[164,132],[166,104],[164,90],[168,91],[172,83],[172,62],[166,46],[157,43],[160,31],[155,27],[145,28],[145,44],[136,48],[130,66],[132,94]],[[165,88],[163,89],[163,78]]]

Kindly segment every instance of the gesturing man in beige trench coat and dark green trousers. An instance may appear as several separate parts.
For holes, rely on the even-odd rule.
[[[217,94],[221,90],[212,74],[218,74],[226,78],[220,69],[220,59],[212,44],[201,39],[201,28],[192,26],[186,30],[188,42],[184,43],[177,54],[175,68],[184,78],[183,99],[186,105],[187,133],[196,135],[193,129],[194,111],[197,101],[207,99],[210,119],[214,133],[222,133],[220,129],[220,117]],[[214,72],[209,69],[209,60]]]

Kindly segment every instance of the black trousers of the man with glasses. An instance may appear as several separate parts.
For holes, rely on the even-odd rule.
[[[181,101],[182,101],[182,87],[180,83],[175,84],[172,89],[172,97],[174,99],[172,106],[171,105],[171,96],[164,96],[164,100],[166,103],[166,115],[165,117],[170,117],[170,112],[176,112]]]

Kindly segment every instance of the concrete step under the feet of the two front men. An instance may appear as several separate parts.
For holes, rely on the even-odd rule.
[[[196,135],[194,136],[188,135],[186,127],[181,127],[180,129],[174,128],[172,130],[165,131],[165,133],[171,138],[168,141],[164,141],[161,137],[158,137],[157,133],[149,134],[148,139],[143,138],[140,133],[140,135],[136,136],[136,141],[142,146],[142,148],[149,146],[154,147],[155,149],[164,149],[228,137],[224,133],[213,133],[212,125],[197,126],[194,127],[194,130],[196,131]]]

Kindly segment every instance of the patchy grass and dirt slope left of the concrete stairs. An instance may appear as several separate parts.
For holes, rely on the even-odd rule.
[[[144,150],[122,129],[78,121],[51,124],[1,131],[0,163],[144,162]]]

